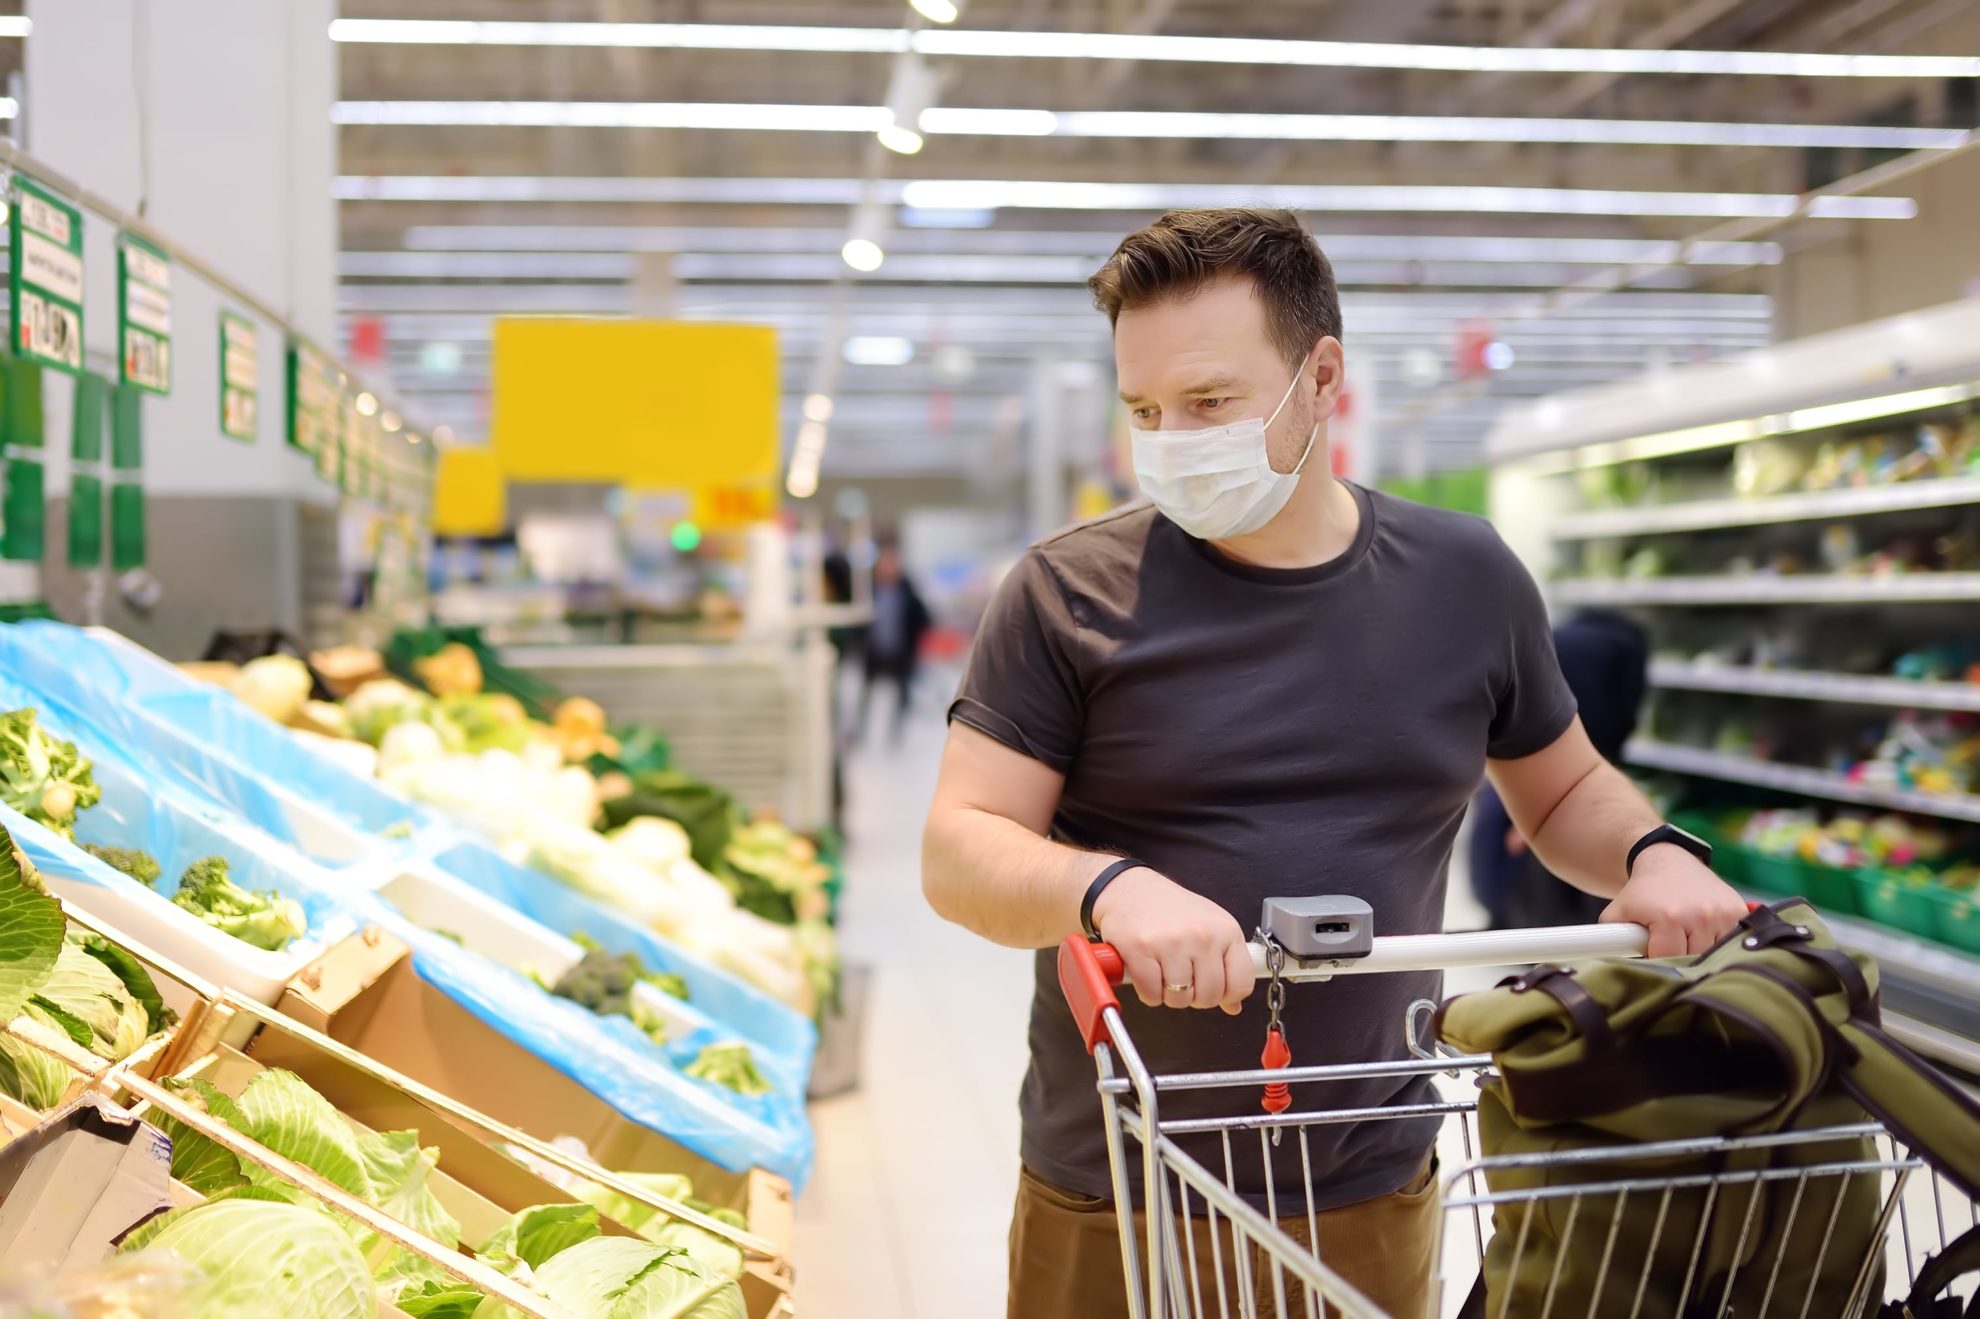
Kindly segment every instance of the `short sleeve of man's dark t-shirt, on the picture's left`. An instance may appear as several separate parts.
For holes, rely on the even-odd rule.
[[[1028,553],[984,610],[948,717],[1067,772],[1085,723],[1075,642],[1077,624],[1051,564]]]

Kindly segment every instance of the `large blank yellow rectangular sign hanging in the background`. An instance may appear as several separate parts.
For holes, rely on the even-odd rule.
[[[768,481],[778,454],[776,331],[501,319],[491,408],[491,444],[511,481]]]

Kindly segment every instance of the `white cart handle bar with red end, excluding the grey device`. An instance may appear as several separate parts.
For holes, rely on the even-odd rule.
[[[1386,935],[1366,957],[1287,963],[1287,980],[1327,980],[1340,974],[1453,970],[1457,966],[1529,966],[1590,957],[1643,957],[1649,931],[1641,925],[1554,925],[1544,929],[1489,929],[1469,935]],[[1265,974],[1265,945],[1253,943],[1251,964]],[[1079,1038],[1093,1052],[1107,1038],[1107,1008],[1119,1010],[1113,986],[1127,978],[1121,953],[1111,943],[1067,935],[1059,943],[1059,988],[1073,1010]]]

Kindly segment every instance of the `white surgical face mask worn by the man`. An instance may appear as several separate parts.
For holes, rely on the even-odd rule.
[[[1265,428],[1279,420],[1305,366],[1293,372],[1285,398],[1271,416],[1245,418],[1202,430],[1137,430],[1135,477],[1162,515],[1198,541],[1228,541],[1251,535],[1285,507],[1299,473],[1313,454],[1321,424],[1307,434],[1307,448],[1291,471],[1273,471]]]

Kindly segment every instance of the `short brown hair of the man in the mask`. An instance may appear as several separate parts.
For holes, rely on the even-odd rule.
[[[1190,297],[1228,275],[1247,275],[1257,287],[1265,327],[1289,364],[1321,339],[1340,339],[1335,267],[1289,210],[1172,210],[1123,238],[1087,289],[1115,323],[1123,311]]]

